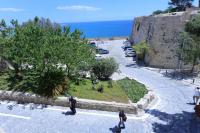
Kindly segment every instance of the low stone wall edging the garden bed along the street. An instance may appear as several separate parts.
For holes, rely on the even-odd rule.
[[[156,99],[155,93],[149,90],[149,93],[141,98],[138,103],[116,103],[116,102],[106,102],[106,101],[96,101],[87,99],[78,99],[77,108],[81,109],[91,109],[91,110],[102,110],[102,111],[112,111],[118,112],[119,110],[124,110],[126,113],[140,115],[140,113],[148,107]],[[35,94],[22,93],[22,92],[12,92],[12,91],[1,91],[0,90],[0,100],[17,101],[18,103],[34,103],[42,105],[56,105],[69,107],[69,100],[67,97],[58,97],[57,99],[45,98],[37,96]]]

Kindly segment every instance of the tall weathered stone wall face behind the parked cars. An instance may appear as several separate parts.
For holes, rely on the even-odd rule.
[[[159,68],[177,69],[180,64],[181,68],[189,68],[178,60],[177,49],[185,23],[197,14],[198,11],[190,11],[136,18],[131,41],[135,44],[146,41],[149,44],[145,63]]]

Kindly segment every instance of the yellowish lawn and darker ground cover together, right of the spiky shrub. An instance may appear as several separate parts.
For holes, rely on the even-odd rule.
[[[103,85],[104,92],[100,93],[97,90],[92,89],[90,80],[84,80],[79,86],[72,84],[68,93],[83,99],[115,101],[121,103],[128,103],[130,99],[133,103],[136,103],[148,92],[145,85],[128,78],[112,81],[112,84],[113,88],[109,88],[108,81],[100,81],[96,86],[96,88],[99,88],[100,85]]]

